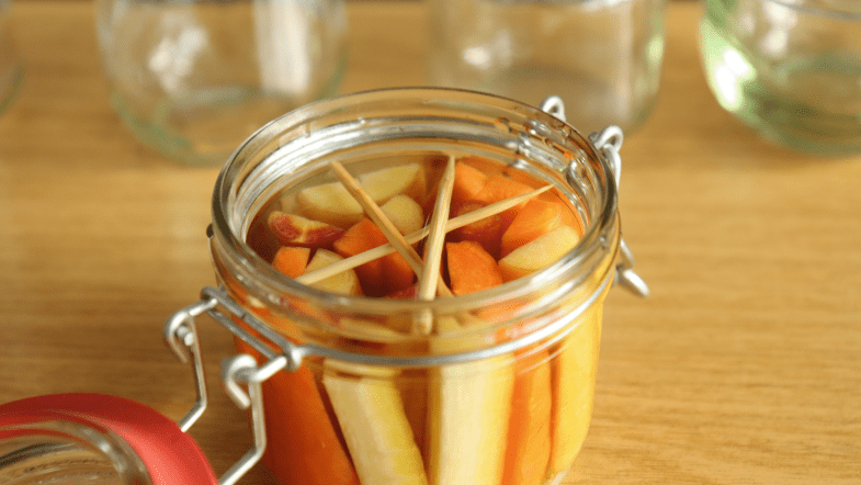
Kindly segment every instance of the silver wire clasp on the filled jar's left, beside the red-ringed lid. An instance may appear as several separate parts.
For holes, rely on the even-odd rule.
[[[203,415],[207,405],[206,379],[194,318],[203,313],[208,313],[209,316],[218,320],[222,325],[226,325],[225,320],[228,322],[230,324],[230,330],[240,338],[252,338],[241,326],[233,323],[230,317],[218,312],[216,309],[216,306],[218,305],[226,307],[229,313],[238,316],[242,320],[249,318],[246,312],[227,297],[224,292],[206,287],[203,290],[202,300],[200,302],[175,312],[165,324],[162,334],[165,342],[173,350],[173,353],[177,354],[181,362],[191,362],[197,391],[194,406],[178,424],[182,431],[188,431],[189,428],[194,425],[197,418]],[[268,350],[267,352],[263,352],[263,354],[269,358],[267,362],[258,364],[253,357],[246,353],[235,356],[222,362],[222,382],[224,383],[225,392],[227,392],[233,402],[240,409],[251,409],[251,430],[254,443],[251,450],[218,478],[219,485],[235,484],[262,458],[263,450],[267,448],[267,432],[263,420],[263,398],[260,384],[275,372],[285,368],[291,368],[288,365],[290,359],[286,356],[273,352],[271,349],[260,343],[259,340],[253,340],[258,342],[258,346]],[[258,346],[256,346],[256,348],[259,348]],[[296,362],[294,362],[294,364],[296,365],[290,370],[298,366]],[[247,387],[248,391],[246,391],[243,386]]]

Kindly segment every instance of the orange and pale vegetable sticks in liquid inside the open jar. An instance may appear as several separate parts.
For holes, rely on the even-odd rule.
[[[466,151],[398,150],[359,156],[343,167],[423,255],[427,239],[411,235],[432,217],[450,156],[456,160],[451,165],[450,219],[533,195],[446,234],[441,274],[451,291],[448,297],[524,278],[577,245],[584,225],[571,202],[556,188],[534,193],[547,182],[497,160]],[[308,279],[386,241],[326,168],[311,170],[272,196],[247,234],[247,243],[286,278],[325,292],[381,302],[415,300],[420,292],[416,271],[398,252]],[[295,342],[326,340],[341,350],[379,356],[457,352],[474,345],[471,339],[477,334],[467,330],[479,327],[472,326],[502,320],[501,313],[517,313],[520,304],[529,306],[509,302],[509,307],[437,317],[424,330],[427,338],[416,339],[422,332],[420,323],[403,315],[362,318],[311,307],[301,298],[286,298],[282,305],[288,311],[280,312],[252,297],[243,301],[239,292],[236,296]],[[305,359],[297,371],[279,372],[263,383],[269,437],[264,461],[285,484],[557,483],[571,467],[589,427],[602,296],[603,290],[569,331],[492,357],[413,368]],[[562,300],[555,312],[571,314],[574,308]],[[299,315],[338,335],[318,335],[319,327],[303,326]],[[523,317],[482,338],[489,336],[490,345],[511,341],[542,322]],[[462,339],[435,338],[462,334]],[[237,345],[239,351],[257,354],[249,345]]]

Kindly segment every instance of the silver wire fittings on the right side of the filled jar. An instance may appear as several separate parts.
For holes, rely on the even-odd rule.
[[[565,103],[562,98],[557,95],[548,97],[541,103],[540,108],[542,111],[565,121]],[[589,135],[589,142],[591,142],[610,162],[616,191],[619,191],[619,184],[622,179],[622,157],[620,157],[619,150],[622,148],[623,139],[624,135],[622,128],[615,125],[610,125],[600,132]],[[619,262],[616,263],[613,283],[619,283],[630,292],[639,296],[648,296],[649,294],[646,282],[634,272],[634,253],[631,252],[627,243],[625,243],[625,239],[622,237],[619,238]]]

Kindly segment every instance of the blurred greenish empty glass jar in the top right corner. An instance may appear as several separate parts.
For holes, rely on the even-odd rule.
[[[706,0],[701,52],[715,98],[786,147],[861,153],[861,2]]]

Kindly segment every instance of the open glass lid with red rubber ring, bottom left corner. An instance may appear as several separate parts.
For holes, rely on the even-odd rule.
[[[72,393],[0,405],[0,484],[47,483],[218,482],[194,440],[177,424],[139,403]]]

